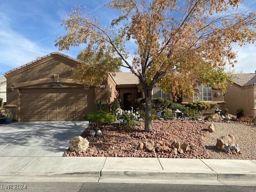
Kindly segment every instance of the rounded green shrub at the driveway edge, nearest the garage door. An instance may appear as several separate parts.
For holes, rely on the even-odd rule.
[[[94,111],[86,114],[84,120],[89,121],[90,127],[97,130],[104,128],[106,124],[114,122],[116,118],[105,111]]]

